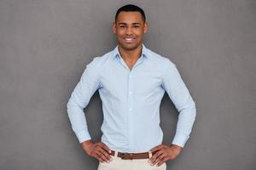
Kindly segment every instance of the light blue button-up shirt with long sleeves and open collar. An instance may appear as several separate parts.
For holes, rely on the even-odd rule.
[[[111,150],[145,152],[161,144],[160,101],[165,92],[177,108],[172,144],[184,146],[195,122],[195,102],[170,59],[143,45],[142,56],[130,70],[118,47],[95,57],[67,103],[67,113],[79,143],[91,139],[84,107],[99,91],[102,99],[102,142]]]

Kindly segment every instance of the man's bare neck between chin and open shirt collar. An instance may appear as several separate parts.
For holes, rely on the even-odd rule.
[[[121,57],[128,62],[136,62],[143,52],[143,44],[132,50],[126,50],[124,48],[121,48],[120,46],[118,48]]]

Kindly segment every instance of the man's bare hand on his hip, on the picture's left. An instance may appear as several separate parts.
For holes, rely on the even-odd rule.
[[[111,150],[108,146],[102,142],[93,143],[92,140],[86,140],[82,143],[82,148],[88,156],[95,157],[101,162],[110,162],[112,157],[110,156]]]

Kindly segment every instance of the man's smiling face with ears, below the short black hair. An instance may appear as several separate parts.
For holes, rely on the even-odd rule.
[[[139,12],[120,12],[113,23],[113,33],[116,34],[120,48],[133,50],[143,43],[143,35],[148,31],[148,25]]]

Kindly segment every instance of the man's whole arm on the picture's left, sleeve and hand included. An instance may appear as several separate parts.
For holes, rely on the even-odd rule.
[[[91,96],[100,86],[100,77],[95,58],[80,78],[79,83],[74,88],[70,99],[67,102],[67,115],[76,134],[82,149],[89,155],[96,157],[99,161],[109,161],[109,148],[102,142],[94,144],[88,132],[87,122],[84,116],[84,108],[88,105]]]

